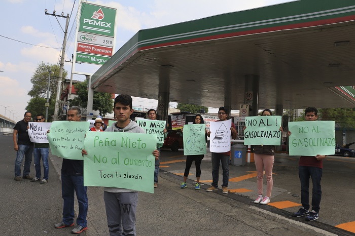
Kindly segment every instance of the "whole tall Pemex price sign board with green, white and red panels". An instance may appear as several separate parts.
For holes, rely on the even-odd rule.
[[[75,60],[104,64],[114,53],[116,9],[82,1],[78,24]]]

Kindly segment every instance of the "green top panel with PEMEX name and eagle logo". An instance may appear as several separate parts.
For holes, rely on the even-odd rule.
[[[115,36],[116,9],[82,3],[79,31]]]

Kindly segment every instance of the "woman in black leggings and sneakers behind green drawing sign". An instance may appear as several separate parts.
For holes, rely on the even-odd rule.
[[[204,124],[202,116],[200,114],[197,114],[194,117],[194,122],[192,124]],[[182,129],[183,130],[183,129]],[[207,132],[207,130],[205,130]],[[205,133],[205,139],[207,142],[207,135]],[[200,177],[201,177],[201,162],[203,159],[203,154],[200,155],[187,155],[186,156],[186,167],[185,167],[185,173],[184,173],[184,181],[180,184],[181,188],[186,188],[186,180],[187,177],[189,176],[190,168],[192,165],[192,162],[195,161],[195,166],[196,166],[196,184],[195,184],[195,189],[200,189]]]

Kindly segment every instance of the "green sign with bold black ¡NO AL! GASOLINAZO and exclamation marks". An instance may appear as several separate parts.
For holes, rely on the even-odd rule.
[[[247,116],[245,126],[245,145],[280,145],[281,116]]]

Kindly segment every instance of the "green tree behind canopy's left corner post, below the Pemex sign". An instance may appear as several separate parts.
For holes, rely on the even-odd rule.
[[[76,91],[76,97],[74,99],[69,99],[70,106],[79,106],[82,107],[83,112],[87,109],[88,106],[88,90],[87,82],[81,82],[74,85]],[[98,110],[101,116],[105,116],[107,113],[113,111],[114,102],[112,100],[111,93],[103,92],[94,92],[93,106],[94,110]]]

